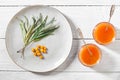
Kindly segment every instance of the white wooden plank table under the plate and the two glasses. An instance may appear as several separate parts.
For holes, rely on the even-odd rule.
[[[22,8],[35,4],[60,10],[68,18],[74,35],[68,59],[48,73],[31,73],[19,68],[9,58],[5,46],[5,31],[10,19]],[[92,38],[92,30],[97,23],[108,20],[111,4],[116,5],[111,23],[117,29],[117,38],[110,45],[98,45]],[[86,42],[101,48],[102,60],[97,66],[85,67],[78,61],[82,42],[75,27],[81,28]],[[0,0],[0,80],[120,80],[120,0]]]

